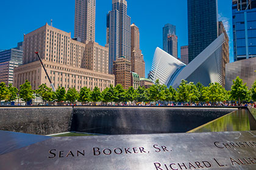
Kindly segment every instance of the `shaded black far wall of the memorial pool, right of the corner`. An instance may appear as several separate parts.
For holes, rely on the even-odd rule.
[[[234,109],[74,107],[71,131],[93,134],[187,132]]]

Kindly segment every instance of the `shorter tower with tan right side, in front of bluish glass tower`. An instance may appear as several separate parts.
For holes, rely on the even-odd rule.
[[[173,34],[169,34],[167,36],[168,41],[168,50],[167,52],[174,56],[175,58],[178,58],[178,37]]]

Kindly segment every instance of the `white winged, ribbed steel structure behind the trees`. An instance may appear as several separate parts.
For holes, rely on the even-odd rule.
[[[220,35],[204,51],[202,51],[187,66],[173,56],[157,47],[150,78],[159,80],[160,84],[177,88],[182,80],[188,82],[209,83],[222,85],[222,44],[225,42],[224,34]]]

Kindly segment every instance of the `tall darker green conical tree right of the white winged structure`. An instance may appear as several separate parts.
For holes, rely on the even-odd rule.
[[[246,83],[243,83],[243,80],[239,77],[236,77],[236,80],[233,80],[233,85],[231,87],[231,98],[238,101],[241,104],[241,101],[250,99],[250,92]]]

